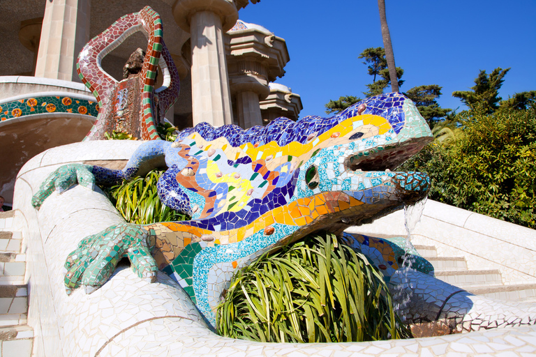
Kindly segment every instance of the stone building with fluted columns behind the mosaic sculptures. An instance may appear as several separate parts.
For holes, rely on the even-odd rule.
[[[161,15],[165,43],[181,78],[179,100],[166,114],[171,123],[179,128],[202,121],[249,128],[266,125],[277,116],[296,120],[299,96],[288,87],[271,85],[285,74],[290,59],[285,40],[262,26],[238,20],[241,8],[257,2],[1,1],[0,195],[10,202],[15,175],[24,162],[45,149],[79,142],[87,134],[97,112],[91,107],[95,102],[91,92],[77,76],[77,55],[119,17],[146,5]],[[133,33],[105,54],[101,66],[120,80],[128,56],[146,46],[144,34]],[[54,98],[64,96],[87,110],[61,112],[61,103]],[[13,102],[34,97],[41,99],[28,107],[31,112],[11,109]],[[58,110],[38,110],[40,105],[48,110],[52,102]]]

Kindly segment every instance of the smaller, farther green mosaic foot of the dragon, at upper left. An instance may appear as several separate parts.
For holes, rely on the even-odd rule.
[[[95,177],[91,173],[91,166],[83,164],[69,164],[59,167],[47,179],[41,183],[38,192],[32,197],[31,204],[39,209],[43,201],[54,190],[60,194],[78,183],[86,188],[93,190],[95,187]]]

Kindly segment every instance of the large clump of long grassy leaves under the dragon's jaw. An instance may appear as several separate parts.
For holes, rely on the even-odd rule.
[[[381,273],[333,234],[308,236],[242,268],[217,316],[220,335],[260,342],[410,337]]]

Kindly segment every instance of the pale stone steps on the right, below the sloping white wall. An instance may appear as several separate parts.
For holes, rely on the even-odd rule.
[[[433,245],[415,245],[415,249],[430,261],[439,280],[488,298],[536,302],[536,284],[505,285],[496,269],[469,270],[464,257],[438,257]]]

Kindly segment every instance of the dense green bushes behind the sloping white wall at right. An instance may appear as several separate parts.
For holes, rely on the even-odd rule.
[[[428,172],[431,199],[536,228],[536,106],[457,119],[456,140],[435,140],[402,169]]]

